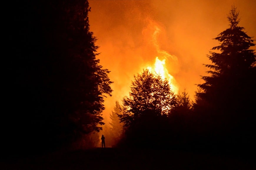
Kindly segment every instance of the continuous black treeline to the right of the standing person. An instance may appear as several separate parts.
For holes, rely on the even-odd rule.
[[[167,79],[143,70],[122,99],[120,146],[253,152],[255,144],[256,55],[252,37],[240,27],[232,6],[229,28],[207,55],[212,64],[195,101],[186,90],[175,95]]]

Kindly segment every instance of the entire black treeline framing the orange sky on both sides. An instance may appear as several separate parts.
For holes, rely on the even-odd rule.
[[[104,97],[111,96],[109,70],[96,58],[86,0],[22,1],[7,24],[1,139],[6,153],[48,152],[89,144],[102,130]],[[241,149],[255,143],[255,52],[238,26],[215,40],[195,101],[175,95],[168,81],[144,69],[129,96],[110,114],[116,147]],[[106,136],[106,135],[104,135]],[[118,142],[117,142],[118,141]],[[107,143],[107,141],[106,141]],[[72,145],[73,144],[73,145]],[[81,144],[81,143],[80,143]],[[79,148],[79,147],[77,147]]]

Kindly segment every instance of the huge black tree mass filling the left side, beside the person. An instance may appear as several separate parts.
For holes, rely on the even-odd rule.
[[[59,147],[103,125],[104,96],[112,89],[107,69],[96,59],[87,0],[22,1],[10,24],[7,142],[13,147]],[[19,25],[19,29],[17,29]],[[7,44],[8,44],[7,43]],[[20,114],[23,113],[23,114]],[[11,120],[13,117],[12,122]],[[31,149],[36,150],[36,149]]]

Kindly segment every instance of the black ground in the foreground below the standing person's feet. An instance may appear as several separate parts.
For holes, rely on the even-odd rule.
[[[253,157],[253,156],[252,156]],[[157,149],[95,148],[17,156],[1,160],[0,169],[256,169],[248,155],[195,153]]]

